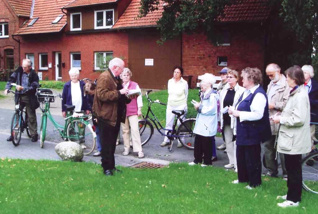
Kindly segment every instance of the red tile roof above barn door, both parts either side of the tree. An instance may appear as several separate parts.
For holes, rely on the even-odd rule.
[[[224,16],[219,17],[221,22],[250,22],[266,20],[270,8],[266,6],[268,0],[241,0],[237,4],[226,6]],[[159,10],[149,13],[146,17],[137,18],[139,14],[140,0],[132,0],[122,16],[112,28],[129,28],[157,25],[163,12],[163,4]]]

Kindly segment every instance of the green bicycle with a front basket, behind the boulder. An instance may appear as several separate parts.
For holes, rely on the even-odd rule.
[[[60,94],[53,94],[50,89],[37,89],[38,101],[41,103],[40,109],[42,111],[41,115],[41,129],[40,129],[40,146],[43,148],[45,135],[46,135],[46,122],[47,118],[55,126],[56,130],[59,131],[60,137],[63,140],[68,139],[69,141],[74,141],[79,144],[84,144],[86,146],[83,149],[84,155],[88,155],[94,151],[96,144],[96,133],[93,130],[93,126],[88,123],[86,120],[87,115],[74,117],[75,106],[74,105],[65,105],[66,106],[66,118],[64,126],[59,125],[51,115],[50,112],[50,103],[54,102],[55,97]],[[77,115],[78,116],[78,115]],[[83,146],[82,146],[83,148]]]

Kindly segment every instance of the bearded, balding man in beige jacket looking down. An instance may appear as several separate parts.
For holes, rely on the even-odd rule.
[[[280,73],[280,67],[277,64],[269,64],[266,67],[266,75],[271,82],[267,87],[267,98],[268,98],[268,109],[269,116],[281,115],[287,98],[289,96],[289,91],[291,88],[288,86],[286,77]],[[276,177],[278,174],[278,164],[276,158],[276,149],[274,148],[276,135],[279,130],[279,124],[273,123],[270,120],[272,138],[264,142],[264,156],[266,162],[266,168],[268,172],[265,175]],[[283,170],[283,178],[287,179],[287,171],[285,168],[284,155],[280,155],[281,168]]]

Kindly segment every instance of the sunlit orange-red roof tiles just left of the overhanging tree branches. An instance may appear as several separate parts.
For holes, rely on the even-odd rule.
[[[117,20],[112,28],[127,28],[157,25],[157,21],[161,18],[163,12],[163,4],[159,5],[159,10],[153,11],[147,16],[138,18],[140,0],[132,0],[125,12]]]

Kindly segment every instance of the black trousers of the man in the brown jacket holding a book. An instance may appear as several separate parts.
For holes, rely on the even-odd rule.
[[[120,122],[115,126],[111,126],[99,120],[98,128],[100,130],[101,166],[105,172],[107,169],[115,168],[114,153]]]

